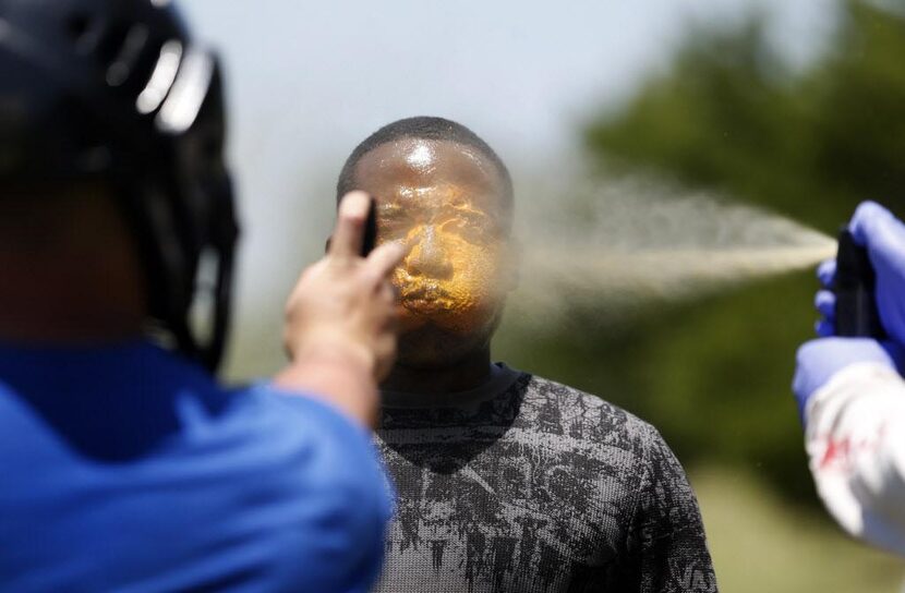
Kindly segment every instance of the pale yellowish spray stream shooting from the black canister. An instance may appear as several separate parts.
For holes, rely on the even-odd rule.
[[[649,179],[547,195],[519,202],[522,281],[511,299],[516,314],[543,323],[572,307],[620,317],[836,252],[831,237],[776,214]]]

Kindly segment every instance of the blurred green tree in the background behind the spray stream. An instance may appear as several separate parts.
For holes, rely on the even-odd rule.
[[[861,199],[901,214],[905,22],[864,1],[837,10],[832,49],[799,70],[762,20],[692,32],[671,69],[589,125],[589,153],[603,171],[653,171],[829,233]],[[535,341],[530,364],[651,421],[685,463],[743,462],[812,503],[789,383],[816,288],[808,273],[659,307],[615,331],[579,320],[580,338]]]

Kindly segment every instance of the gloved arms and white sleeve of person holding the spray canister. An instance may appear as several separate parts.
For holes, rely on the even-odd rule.
[[[798,349],[793,390],[817,491],[850,535],[905,555],[905,225],[865,202],[848,222],[877,275],[888,339],[835,336],[835,261],[818,269],[819,339]]]

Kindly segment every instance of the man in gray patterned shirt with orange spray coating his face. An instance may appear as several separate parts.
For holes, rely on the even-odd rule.
[[[491,363],[517,281],[512,185],[481,138],[391,123],[342,169],[377,196],[399,359],[378,441],[398,489],[379,590],[715,591],[693,493],[657,432],[607,402]]]

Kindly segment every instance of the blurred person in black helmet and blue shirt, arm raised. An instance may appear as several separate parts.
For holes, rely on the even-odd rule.
[[[402,254],[359,256],[369,197],[347,196],[290,298],[290,364],[218,384],[237,238],[221,101],[166,1],[0,0],[2,591],[376,577],[389,500],[369,425]]]

